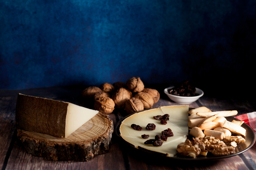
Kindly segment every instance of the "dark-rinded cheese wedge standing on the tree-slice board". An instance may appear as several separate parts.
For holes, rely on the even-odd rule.
[[[16,127],[67,138],[99,111],[69,102],[18,94]]]

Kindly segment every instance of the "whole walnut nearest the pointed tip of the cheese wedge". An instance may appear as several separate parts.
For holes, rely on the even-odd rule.
[[[94,109],[101,113],[109,114],[115,109],[115,103],[109,97],[100,97],[94,102]]]

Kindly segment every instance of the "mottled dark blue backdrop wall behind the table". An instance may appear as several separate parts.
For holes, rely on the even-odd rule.
[[[0,88],[255,75],[255,0],[0,0]]]

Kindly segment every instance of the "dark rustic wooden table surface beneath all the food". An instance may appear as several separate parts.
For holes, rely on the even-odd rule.
[[[167,86],[168,87],[168,86]],[[106,154],[95,156],[88,162],[49,161],[42,157],[28,154],[22,143],[17,140],[15,127],[15,107],[17,94],[25,94],[54,100],[71,102],[83,105],[79,94],[85,87],[65,86],[46,87],[24,90],[0,90],[0,168],[2,170],[16,169],[256,169],[256,145],[237,156],[219,160],[186,161],[176,159],[156,158],[152,155],[134,152],[133,149],[119,142],[113,133],[110,150]],[[148,88],[153,88],[149,87]],[[158,86],[160,100],[153,108],[165,105],[179,105],[163,93],[165,87]],[[189,107],[205,106],[213,111],[237,110],[238,115],[256,111],[255,101],[246,98],[217,97],[204,94],[198,101],[189,104]],[[115,110],[109,114],[116,123],[125,115]]]

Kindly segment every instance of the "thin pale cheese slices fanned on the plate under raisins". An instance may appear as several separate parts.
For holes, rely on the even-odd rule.
[[[174,156],[177,152],[177,145],[185,142],[188,135],[188,105],[182,106],[163,106],[155,109],[150,109],[140,113],[133,114],[126,118],[120,125],[120,136],[132,144],[136,148],[143,148],[154,152],[160,152],[166,156]],[[166,125],[160,123],[153,117],[157,115],[169,114],[169,120]],[[154,123],[156,129],[153,131],[146,130],[148,123]],[[137,131],[131,128],[131,124],[140,125],[142,131]],[[163,141],[162,146],[155,147],[153,145],[145,145],[144,142],[148,139],[155,139],[156,135],[161,136],[161,132],[170,128],[173,132],[173,137],[168,137],[167,141]],[[141,135],[150,135],[148,139],[143,139]]]

